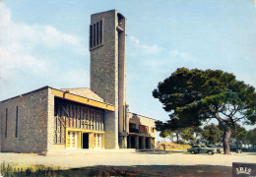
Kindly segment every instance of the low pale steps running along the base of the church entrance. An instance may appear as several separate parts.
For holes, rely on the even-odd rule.
[[[134,153],[135,148],[119,148],[119,149],[63,149],[63,150],[51,150],[42,151],[41,155],[60,155],[60,154],[88,154],[88,153]]]

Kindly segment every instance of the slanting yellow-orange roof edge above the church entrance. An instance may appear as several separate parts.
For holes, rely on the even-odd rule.
[[[90,99],[90,98],[87,98],[87,97],[83,97],[83,96],[73,94],[73,93],[70,93],[70,92],[67,92],[67,91],[59,90],[59,89],[52,89],[52,88],[50,88],[50,89],[51,89],[51,94],[56,96],[56,97],[60,97],[60,98],[63,98],[63,99],[68,99],[68,100],[71,100],[71,101],[79,102],[79,103],[82,103],[82,104],[94,106],[94,107],[109,110],[109,111],[114,111],[115,110],[114,105],[111,105],[111,104],[96,101],[94,99]]]

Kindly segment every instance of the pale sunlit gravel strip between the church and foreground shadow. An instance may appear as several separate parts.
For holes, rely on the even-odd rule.
[[[256,163],[256,152],[241,154],[190,154],[187,152],[98,152],[85,154],[53,154],[42,156],[29,153],[0,153],[0,162],[5,161],[19,167],[44,165],[51,167],[77,168],[96,165],[221,165],[232,166],[232,162]]]

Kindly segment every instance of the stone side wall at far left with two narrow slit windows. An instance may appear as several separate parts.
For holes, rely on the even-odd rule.
[[[48,88],[43,88],[0,102],[1,151],[41,152],[46,150],[47,99]]]

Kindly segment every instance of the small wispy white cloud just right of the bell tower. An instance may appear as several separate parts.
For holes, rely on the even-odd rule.
[[[140,42],[140,40],[134,36],[130,36],[130,40],[134,43],[134,47],[137,49],[142,50],[142,52],[148,53],[148,54],[158,54],[160,51],[162,51],[162,48],[160,48],[157,44],[154,45],[146,45]]]

